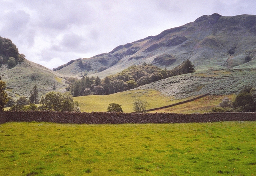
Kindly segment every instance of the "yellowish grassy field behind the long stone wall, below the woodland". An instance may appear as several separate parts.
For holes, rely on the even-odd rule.
[[[140,100],[146,100],[149,102],[147,109],[158,108],[167,106],[191,98],[185,98],[175,100],[172,97],[165,96],[156,90],[130,90],[126,92],[119,92],[111,95],[92,95],[92,96],[80,96],[74,97],[74,101],[78,101],[80,104],[81,111],[85,112],[96,112],[106,111],[110,103],[117,103],[122,105],[124,112],[133,112],[132,102],[138,98]],[[218,105],[222,98],[225,96],[206,96],[193,102],[174,106],[172,108],[166,108],[154,112],[174,112],[174,113],[193,113],[193,112],[208,112],[213,106]],[[228,95],[230,100],[234,99],[234,95]]]

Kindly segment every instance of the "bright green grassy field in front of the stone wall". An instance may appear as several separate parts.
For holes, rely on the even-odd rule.
[[[0,125],[1,175],[256,175],[256,122]]]

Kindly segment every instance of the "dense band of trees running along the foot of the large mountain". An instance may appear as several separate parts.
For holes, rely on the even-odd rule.
[[[81,80],[74,77],[67,78],[66,83],[69,86],[66,90],[71,91],[73,96],[108,95],[194,71],[194,65],[189,60],[182,62],[172,70],[143,63],[130,66],[115,75],[106,76],[103,80],[98,76],[96,78],[83,76]]]

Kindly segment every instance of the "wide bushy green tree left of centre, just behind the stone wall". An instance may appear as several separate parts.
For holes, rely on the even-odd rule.
[[[50,111],[73,111],[74,100],[72,95],[61,92],[48,92],[45,96],[42,96],[40,104],[42,110]]]

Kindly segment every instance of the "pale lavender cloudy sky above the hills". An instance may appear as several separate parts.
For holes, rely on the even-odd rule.
[[[50,69],[202,15],[256,15],[255,0],[0,0],[0,36]]]

